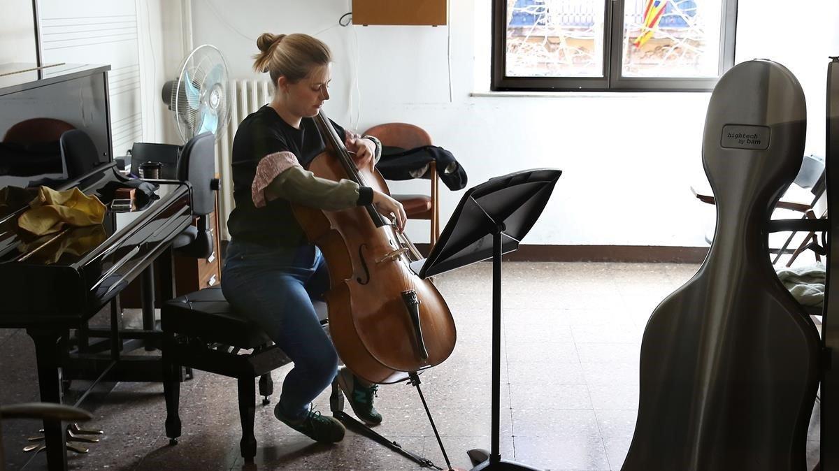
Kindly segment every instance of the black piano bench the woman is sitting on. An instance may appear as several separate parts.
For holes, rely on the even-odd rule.
[[[326,329],[326,304],[317,306]],[[256,413],[254,378],[259,394],[268,404],[274,389],[271,370],[291,362],[257,325],[236,313],[220,287],[190,292],[164,303],[160,311],[164,332],[162,356],[166,398],[166,436],[169,443],[180,437],[180,367],[188,366],[238,380],[239,418],[242,422],[242,458],[253,462],[257,451],[253,436]]]

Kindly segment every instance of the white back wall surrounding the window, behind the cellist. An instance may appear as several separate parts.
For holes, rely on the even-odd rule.
[[[361,131],[382,122],[425,127],[463,164],[470,186],[524,168],[562,169],[525,243],[706,246],[713,210],[689,187],[705,181],[701,136],[709,94],[470,96],[489,84],[490,2],[450,3],[448,27],[341,28],[348,1],[194,0],[193,39],[221,49],[233,78],[256,76],[250,58],[258,34],[323,39],[336,56],[329,115]],[[799,76],[810,103],[810,152],[824,149],[826,56],[839,54],[834,3],[810,3],[813,13],[798,20],[782,0],[740,0],[737,60],[778,60]],[[425,188],[425,181],[391,186],[395,193]],[[444,187],[443,221],[460,195]],[[411,238],[427,241],[427,227],[411,221]]]

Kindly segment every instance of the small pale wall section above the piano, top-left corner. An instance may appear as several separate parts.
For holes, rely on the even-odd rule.
[[[36,62],[31,0],[3,0],[3,14],[0,14],[0,64],[10,62]]]

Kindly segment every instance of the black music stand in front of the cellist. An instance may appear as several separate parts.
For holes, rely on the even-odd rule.
[[[519,248],[545,208],[562,172],[537,168],[509,173],[466,190],[427,259],[415,261],[421,278],[492,257],[492,450],[472,471],[532,469],[501,459],[498,451],[501,384],[501,255]],[[475,453],[477,452],[477,453]],[[469,455],[486,456],[482,450]],[[538,471],[538,470],[537,470]]]

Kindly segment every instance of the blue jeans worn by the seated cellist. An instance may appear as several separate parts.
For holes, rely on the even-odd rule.
[[[224,297],[294,361],[279,398],[287,417],[303,417],[337,372],[335,346],[311,302],[327,289],[326,261],[315,246],[266,247],[243,241],[227,246],[221,268]]]

